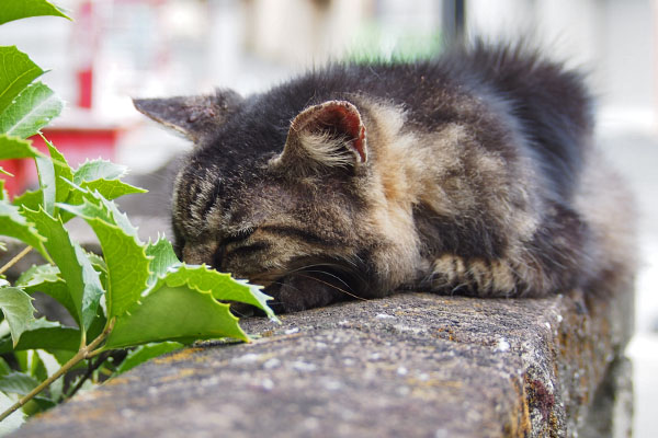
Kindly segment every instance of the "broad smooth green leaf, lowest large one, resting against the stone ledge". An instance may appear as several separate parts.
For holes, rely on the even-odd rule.
[[[228,304],[217,302],[209,292],[164,286],[143,298],[129,313],[116,318],[104,348],[226,336],[249,341]]]

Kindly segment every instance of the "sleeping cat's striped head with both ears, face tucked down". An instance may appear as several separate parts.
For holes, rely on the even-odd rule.
[[[263,110],[226,91],[135,105],[195,142],[172,199],[184,262],[265,286],[280,311],[376,296],[392,272],[408,272],[411,212],[392,211],[373,164],[390,132],[372,110],[347,100]]]

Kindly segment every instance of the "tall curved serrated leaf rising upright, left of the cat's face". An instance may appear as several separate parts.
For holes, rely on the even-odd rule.
[[[78,206],[58,204],[58,207],[84,219],[99,238],[107,266],[107,319],[112,319],[136,306],[147,288],[149,258],[136,239],[136,230],[114,203],[94,196],[98,204],[86,198]]]

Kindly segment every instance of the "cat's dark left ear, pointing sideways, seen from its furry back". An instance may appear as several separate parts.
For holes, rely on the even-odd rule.
[[[232,90],[217,90],[206,95],[134,99],[133,103],[140,113],[200,142],[240,107],[242,96]]]

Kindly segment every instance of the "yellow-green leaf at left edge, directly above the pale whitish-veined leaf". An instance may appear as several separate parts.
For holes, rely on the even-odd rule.
[[[4,10],[5,7],[7,4],[3,4],[2,9]],[[0,114],[43,73],[44,70],[15,46],[0,47]]]

